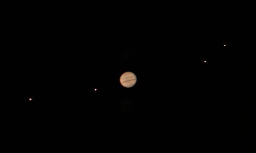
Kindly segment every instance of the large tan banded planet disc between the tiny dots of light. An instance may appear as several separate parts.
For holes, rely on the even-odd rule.
[[[125,72],[120,77],[120,83],[125,88],[133,87],[137,82],[137,77],[132,72]]]

